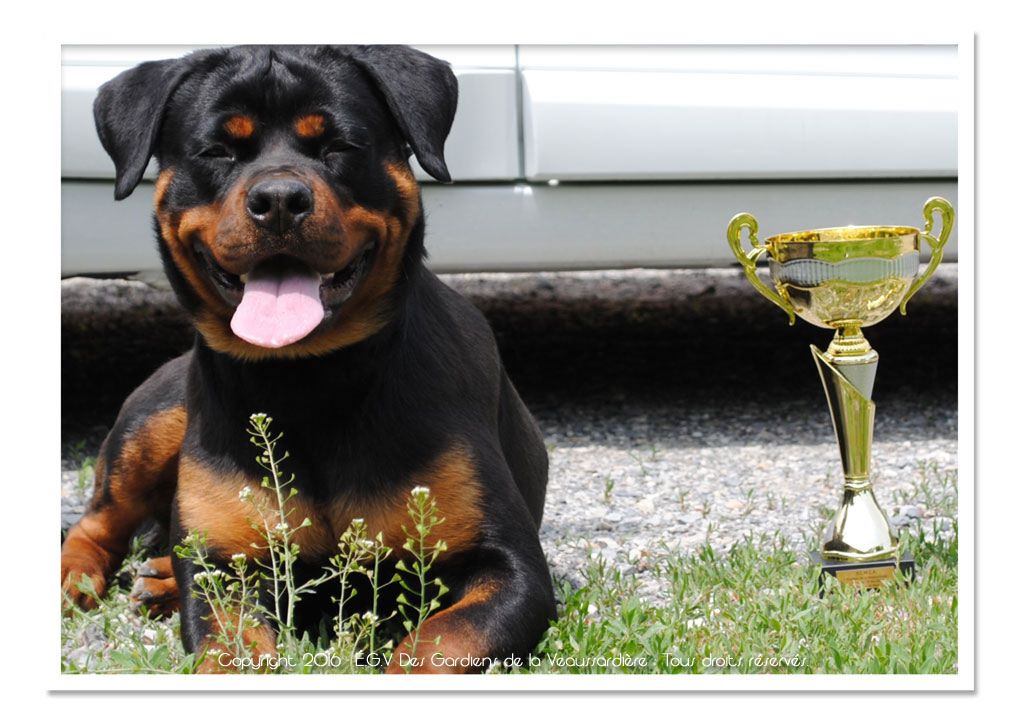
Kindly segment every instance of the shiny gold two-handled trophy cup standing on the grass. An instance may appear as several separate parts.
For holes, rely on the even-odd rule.
[[[942,219],[938,238],[932,236],[936,212]],[[899,539],[871,487],[871,388],[879,354],[861,329],[882,322],[897,306],[906,314],[910,297],[942,261],[952,225],[952,206],[938,197],[925,204],[924,231],[910,226],[843,226],[780,233],[761,243],[752,215],[737,214],[729,222],[729,246],[746,279],[785,310],[790,324],[799,314],[836,331],[827,350],[811,345],[811,353],[828,398],[845,482],[842,504],[814,557],[822,574],[843,583],[877,588],[893,578],[897,565],[907,580],[913,579],[913,560],[900,555]],[[744,227],[751,251],[744,251],[740,241]],[[931,247],[932,258],[919,274],[922,239]],[[765,255],[774,290],[756,273]]]

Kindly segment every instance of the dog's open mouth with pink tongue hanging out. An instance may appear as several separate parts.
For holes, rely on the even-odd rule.
[[[232,274],[199,249],[221,295],[236,309],[231,331],[251,344],[276,349],[297,342],[351,298],[373,262],[367,246],[343,269],[321,274],[289,256],[260,262],[247,274]]]

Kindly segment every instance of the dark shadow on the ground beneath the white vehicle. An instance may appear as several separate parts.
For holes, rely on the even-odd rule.
[[[808,346],[830,334],[759,297],[737,270],[455,274],[445,282],[487,316],[506,367],[542,425],[565,411],[615,415],[651,406],[700,409],[824,404]],[[868,331],[882,355],[874,397],[956,406],[956,267]],[[61,285],[65,440],[101,435],[125,396],[186,349],[191,330],[164,288],[140,282]],[[822,413],[823,414],[823,413]],[[824,420],[822,422],[825,422]],[[552,422],[552,424],[555,424]],[[900,431],[908,439],[913,429]],[[927,433],[922,433],[927,434]]]

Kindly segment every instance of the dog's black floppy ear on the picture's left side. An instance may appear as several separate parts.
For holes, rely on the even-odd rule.
[[[92,104],[96,132],[114,160],[114,198],[121,201],[142,180],[171,93],[185,75],[181,59],[151,60],[99,86]]]

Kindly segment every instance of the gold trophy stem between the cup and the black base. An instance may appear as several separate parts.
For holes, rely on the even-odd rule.
[[[874,498],[870,480],[874,432],[870,395],[879,355],[859,329],[849,332],[842,334],[841,329],[834,340],[845,353],[837,354],[831,345],[827,352],[811,346],[828,399],[845,478],[843,502],[829,523],[821,555],[849,562],[882,560],[895,556],[898,539]]]

